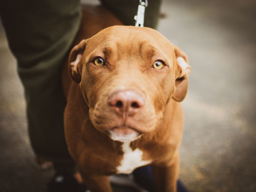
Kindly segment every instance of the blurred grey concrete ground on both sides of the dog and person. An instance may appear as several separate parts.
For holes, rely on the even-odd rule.
[[[162,12],[158,30],[192,67],[180,179],[194,192],[256,191],[256,2],[165,0]],[[53,172],[34,166],[24,91],[2,27],[0,66],[0,191],[44,191]]]

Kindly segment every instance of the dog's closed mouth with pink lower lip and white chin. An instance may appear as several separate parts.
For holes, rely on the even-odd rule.
[[[131,142],[138,139],[142,133],[133,127],[116,126],[110,130],[105,131],[109,137],[114,141]]]

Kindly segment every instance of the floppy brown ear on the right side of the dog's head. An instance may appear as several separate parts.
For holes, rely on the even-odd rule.
[[[188,65],[187,55],[180,50],[177,46],[172,44],[176,58],[176,71],[175,71],[175,91],[172,98],[175,101],[182,101],[188,89],[188,74],[191,72],[191,67]]]

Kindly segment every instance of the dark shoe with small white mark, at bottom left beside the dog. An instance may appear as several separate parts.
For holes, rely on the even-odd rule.
[[[85,192],[84,183],[79,184],[71,174],[56,174],[47,184],[48,192]]]

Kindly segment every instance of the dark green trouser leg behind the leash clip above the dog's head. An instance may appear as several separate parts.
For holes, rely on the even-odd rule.
[[[135,25],[134,16],[137,15],[139,0],[100,0],[124,25]],[[145,9],[144,27],[156,29],[162,0],[148,0]]]

